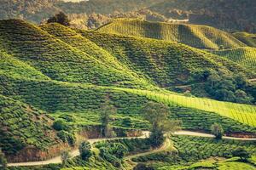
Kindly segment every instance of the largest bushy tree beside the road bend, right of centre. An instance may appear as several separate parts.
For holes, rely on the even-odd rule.
[[[153,147],[158,147],[164,142],[165,133],[172,133],[180,127],[181,122],[168,119],[170,111],[166,105],[148,102],[141,112],[150,124],[149,140]]]

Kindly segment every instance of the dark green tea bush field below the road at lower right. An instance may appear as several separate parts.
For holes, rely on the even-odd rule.
[[[232,151],[241,147],[249,154],[255,155],[255,141],[231,139],[216,140],[211,138],[172,136],[174,147],[183,161],[197,161],[211,156],[232,157]]]

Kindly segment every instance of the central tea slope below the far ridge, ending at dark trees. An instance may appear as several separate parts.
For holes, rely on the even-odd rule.
[[[108,50],[123,65],[146,75],[160,87],[188,83],[192,72],[210,68],[220,72],[244,71],[240,65],[229,59],[176,42],[125,37],[97,31],[79,32]]]

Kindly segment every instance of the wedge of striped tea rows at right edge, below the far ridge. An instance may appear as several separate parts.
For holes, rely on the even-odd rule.
[[[212,51],[212,53],[233,60],[251,71],[256,71],[256,48],[232,48]]]

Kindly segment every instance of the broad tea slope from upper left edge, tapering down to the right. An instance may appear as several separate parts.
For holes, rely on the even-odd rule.
[[[54,80],[101,85],[145,84],[24,21],[2,20],[0,31],[0,42],[9,54]]]

